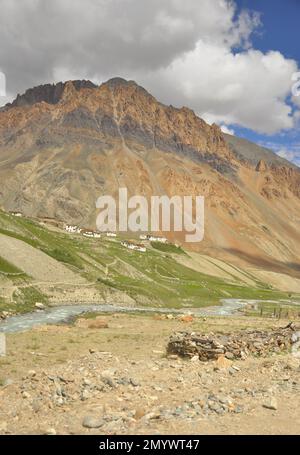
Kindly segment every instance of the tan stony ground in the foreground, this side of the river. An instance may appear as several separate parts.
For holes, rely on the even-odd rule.
[[[299,434],[294,355],[210,362],[166,355],[178,330],[286,322],[119,314],[11,334],[0,359],[0,434]]]

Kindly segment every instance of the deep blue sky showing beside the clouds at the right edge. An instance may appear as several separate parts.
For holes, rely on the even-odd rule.
[[[294,59],[300,67],[300,1],[299,0],[237,0],[238,7],[261,13],[261,27],[252,35],[253,47],[263,52],[280,51]],[[234,126],[236,135],[272,148],[300,166],[300,129],[262,135]]]

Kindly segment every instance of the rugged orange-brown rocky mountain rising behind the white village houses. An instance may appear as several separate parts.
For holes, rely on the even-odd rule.
[[[0,110],[0,181],[4,210],[85,227],[95,225],[96,199],[119,187],[204,195],[205,239],[189,248],[300,274],[299,168],[133,81],[69,81],[18,95]]]

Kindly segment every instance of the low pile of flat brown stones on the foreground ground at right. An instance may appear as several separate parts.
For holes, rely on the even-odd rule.
[[[233,334],[203,335],[195,332],[176,332],[170,337],[167,352],[181,357],[198,356],[201,361],[245,359],[249,355],[265,357],[271,353],[295,351],[300,342],[300,331],[289,324],[272,331],[245,330]]]

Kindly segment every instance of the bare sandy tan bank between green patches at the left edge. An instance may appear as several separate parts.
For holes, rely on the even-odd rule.
[[[27,243],[0,234],[0,255],[27,275],[42,282],[84,283],[67,267]]]

